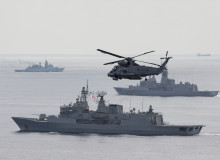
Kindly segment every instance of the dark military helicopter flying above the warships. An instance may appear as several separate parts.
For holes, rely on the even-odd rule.
[[[119,80],[119,79],[140,80],[142,79],[142,77],[159,75],[164,70],[167,70],[166,64],[168,63],[169,59],[172,58],[172,57],[167,57],[168,56],[168,51],[167,51],[166,56],[160,58],[161,61],[162,59],[164,59],[165,61],[161,63],[161,65],[158,65],[155,63],[149,63],[134,59],[136,57],[143,56],[145,54],[149,54],[154,51],[145,52],[134,57],[124,57],[101,49],[97,49],[97,51],[103,54],[109,54],[111,56],[120,58],[120,60],[118,61],[108,62],[104,64],[104,65],[109,65],[109,64],[118,63],[118,65],[114,66],[113,69],[108,73],[108,76],[111,77],[113,80]],[[147,63],[158,67],[139,65],[136,62]]]

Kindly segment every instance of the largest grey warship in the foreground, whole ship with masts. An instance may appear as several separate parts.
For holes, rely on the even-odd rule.
[[[100,92],[101,93],[101,92]],[[98,108],[89,110],[88,87],[74,104],[60,106],[60,114],[40,114],[39,118],[12,117],[24,132],[133,134],[133,135],[181,135],[199,134],[203,125],[167,125],[163,116],[155,113],[152,106],[146,112],[123,112],[123,106],[105,104],[104,94],[98,94]]]

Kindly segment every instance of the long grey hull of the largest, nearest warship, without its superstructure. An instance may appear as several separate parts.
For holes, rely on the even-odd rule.
[[[179,135],[192,136],[199,134],[202,125],[157,125],[127,126],[116,124],[77,124],[76,120],[60,119],[55,121],[34,118],[12,117],[21,131],[25,132],[58,132],[58,133],[95,133],[95,134],[132,134],[146,136]]]

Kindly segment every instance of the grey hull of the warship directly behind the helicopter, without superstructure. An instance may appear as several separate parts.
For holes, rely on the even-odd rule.
[[[128,89],[114,87],[119,95],[134,96],[160,96],[160,97],[214,97],[218,95],[218,91],[164,91],[164,90],[144,90],[144,89]]]

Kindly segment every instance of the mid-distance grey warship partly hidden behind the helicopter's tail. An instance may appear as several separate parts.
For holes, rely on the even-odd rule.
[[[114,87],[119,95],[135,95],[135,96],[204,96],[214,97],[218,91],[199,91],[196,84],[190,82],[175,84],[174,79],[168,78],[168,71],[162,73],[161,82],[157,83],[155,76],[140,81],[137,86],[130,85],[128,88]]]

